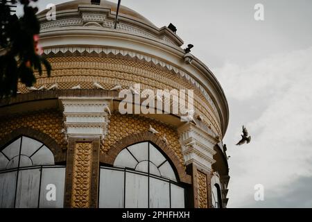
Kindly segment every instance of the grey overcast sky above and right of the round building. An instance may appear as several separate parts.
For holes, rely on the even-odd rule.
[[[39,2],[43,9],[64,1]],[[173,23],[223,86],[230,111],[227,207],[312,207],[312,1],[121,3],[158,27]],[[256,3],[264,21],[254,20]],[[237,147],[242,124],[252,142]],[[256,184],[264,186],[263,201],[254,200]]]

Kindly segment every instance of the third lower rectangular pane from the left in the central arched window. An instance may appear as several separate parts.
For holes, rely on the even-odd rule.
[[[169,208],[169,182],[150,178],[150,208]]]

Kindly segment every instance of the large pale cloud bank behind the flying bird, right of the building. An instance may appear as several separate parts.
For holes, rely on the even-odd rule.
[[[311,59],[312,47],[270,56],[248,67],[228,62],[214,72],[229,103],[239,101],[239,114],[256,112],[257,116],[252,119],[246,115],[243,119],[252,142],[239,148],[232,144],[240,138],[241,123],[235,119],[241,117],[231,116],[225,139],[232,145],[229,207],[248,207],[254,201],[257,183],[263,184],[269,194],[275,191],[282,196],[282,187],[295,186],[295,178],[312,176]],[[270,197],[267,201],[264,204],[270,207]],[[281,198],[280,207],[283,201]]]

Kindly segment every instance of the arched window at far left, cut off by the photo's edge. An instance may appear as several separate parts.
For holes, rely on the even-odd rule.
[[[63,207],[65,167],[41,142],[21,136],[0,149],[0,207]]]

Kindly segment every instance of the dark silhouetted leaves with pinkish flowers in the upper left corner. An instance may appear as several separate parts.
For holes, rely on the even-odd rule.
[[[37,46],[40,24],[37,8],[29,6],[31,1],[37,0],[19,0],[24,7],[20,18],[10,15],[7,0],[0,1],[0,97],[15,96],[19,81],[31,87],[36,81],[34,72],[42,75],[42,65],[48,76],[51,74],[51,65],[40,56]]]

